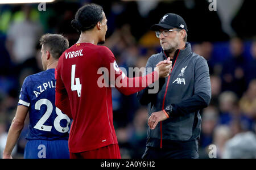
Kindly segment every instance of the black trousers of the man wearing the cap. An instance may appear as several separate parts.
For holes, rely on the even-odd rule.
[[[198,159],[197,150],[174,150],[170,148],[146,147],[142,159]]]

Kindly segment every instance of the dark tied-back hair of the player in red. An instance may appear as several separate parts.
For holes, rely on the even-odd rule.
[[[98,22],[102,21],[102,12],[103,8],[95,3],[84,5],[76,12],[75,19],[72,20],[71,25],[78,32],[93,29]]]

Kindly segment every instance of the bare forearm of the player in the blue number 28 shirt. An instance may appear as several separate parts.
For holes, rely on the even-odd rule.
[[[18,122],[14,118],[7,136],[5,150],[3,151],[3,158],[9,158],[11,156],[11,152],[19,139],[19,135],[23,127],[24,122]]]

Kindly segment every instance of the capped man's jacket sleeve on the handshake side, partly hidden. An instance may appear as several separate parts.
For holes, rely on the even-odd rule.
[[[143,72],[143,75],[149,74],[151,72],[151,70],[154,70],[154,69],[155,69],[155,59],[153,56],[151,56],[147,61],[146,68]],[[165,78],[159,78],[155,83],[152,83],[150,86],[139,91],[137,93],[137,98],[139,100],[139,103],[141,103],[142,105],[147,105],[151,102],[154,103],[158,92],[163,87],[163,84],[165,82],[166,82]],[[159,84],[158,89],[155,86],[156,84]],[[155,88],[156,88],[157,92],[155,91]]]

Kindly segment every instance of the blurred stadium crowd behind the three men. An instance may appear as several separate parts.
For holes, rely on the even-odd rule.
[[[0,4],[1,154],[23,80],[42,71],[39,37],[61,33],[68,37],[69,46],[75,44],[79,33],[70,23],[77,9],[87,2],[104,8],[108,19],[105,45],[114,53],[119,67],[125,68],[144,67],[147,59],[159,52],[159,40],[149,29],[152,24],[169,12],[181,15],[193,51],[208,61],[212,83],[212,101],[201,112],[200,158],[209,158],[208,146],[212,144],[217,147],[217,158],[224,158],[225,144],[235,136],[237,148],[241,147],[240,157],[255,151],[255,138],[247,140],[243,136],[246,131],[255,134],[256,130],[255,0],[216,0],[216,11],[210,11],[212,1],[205,0],[56,0],[46,3],[46,11],[38,10],[39,3]],[[136,95],[123,96],[115,88],[112,92],[121,156],[141,158],[146,145],[147,108],[139,104]],[[27,126],[15,147],[14,158],[23,156],[26,133]]]

